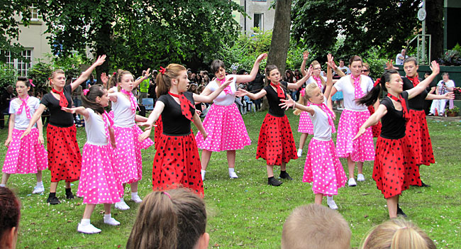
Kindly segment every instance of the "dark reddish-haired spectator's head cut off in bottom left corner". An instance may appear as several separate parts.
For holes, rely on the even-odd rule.
[[[21,204],[7,187],[0,187],[0,248],[16,248]]]

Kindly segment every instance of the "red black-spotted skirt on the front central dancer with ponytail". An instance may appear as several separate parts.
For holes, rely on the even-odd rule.
[[[194,133],[189,135],[162,134],[157,144],[152,167],[152,189],[174,189],[179,186],[192,189],[203,197],[201,164]]]

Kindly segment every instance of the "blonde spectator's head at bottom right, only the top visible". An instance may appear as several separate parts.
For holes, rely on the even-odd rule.
[[[362,249],[435,249],[421,228],[403,218],[394,218],[375,227],[362,242]]]

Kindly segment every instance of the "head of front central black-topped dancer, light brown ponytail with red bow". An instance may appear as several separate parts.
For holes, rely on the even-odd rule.
[[[163,94],[167,94],[172,87],[172,79],[175,81],[179,81],[180,77],[186,76],[186,87],[187,87],[187,70],[186,67],[179,64],[170,64],[165,68],[165,72],[160,70],[159,74],[157,75],[157,97],[162,96]],[[187,88],[186,88],[187,90]],[[183,92],[186,92],[184,90]]]

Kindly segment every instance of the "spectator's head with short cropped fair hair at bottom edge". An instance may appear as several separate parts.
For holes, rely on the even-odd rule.
[[[282,249],[349,249],[351,234],[337,211],[318,204],[298,206],[284,223]]]

